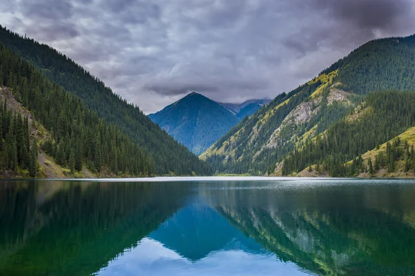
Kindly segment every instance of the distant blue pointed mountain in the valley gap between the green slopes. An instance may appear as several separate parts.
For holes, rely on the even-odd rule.
[[[264,103],[266,100],[246,101],[237,105],[216,103],[192,92],[149,115],[149,118],[194,154],[200,155],[238,124],[240,116],[252,114]]]

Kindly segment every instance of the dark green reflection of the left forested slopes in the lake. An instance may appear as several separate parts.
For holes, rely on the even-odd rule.
[[[0,275],[89,275],[181,208],[182,184],[1,183]]]

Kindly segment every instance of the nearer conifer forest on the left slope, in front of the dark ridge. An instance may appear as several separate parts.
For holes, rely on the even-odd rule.
[[[72,171],[82,170],[85,164],[94,172],[106,168],[116,175],[154,175],[153,161],[143,148],[0,44],[1,86],[10,88],[14,97],[52,133],[41,141],[41,146],[57,164]],[[35,177],[37,141],[30,143],[28,118],[7,110],[6,101],[0,109],[1,168],[28,169]]]

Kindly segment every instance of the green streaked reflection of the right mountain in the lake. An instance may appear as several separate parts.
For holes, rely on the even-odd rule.
[[[202,194],[284,262],[320,275],[415,275],[415,190],[393,183],[230,183]]]

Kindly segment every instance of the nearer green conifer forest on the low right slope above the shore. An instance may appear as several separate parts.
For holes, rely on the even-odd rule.
[[[386,155],[376,157],[376,166],[368,161],[363,164],[359,155],[373,150],[379,144],[400,135],[415,124],[415,94],[411,92],[373,92],[359,108],[357,114],[341,119],[329,127],[314,141],[307,141],[284,159],[283,175],[300,172],[311,165],[317,170],[327,170],[332,176],[354,176],[363,170],[374,173],[374,168],[387,166],[394,171],[394,161],[402,154],[398,151],[400,142],[387,146]],[[410,160],[409,146],[405,146],[405,158]],[[357,157],[357,158],[356,158]],[[353,162],[347,165],[347,162]],[[370,164],[369,164],[370,163]],[[367,167],[366,167],[367,166]],[[407,170],[413,164],[407,161]]]

